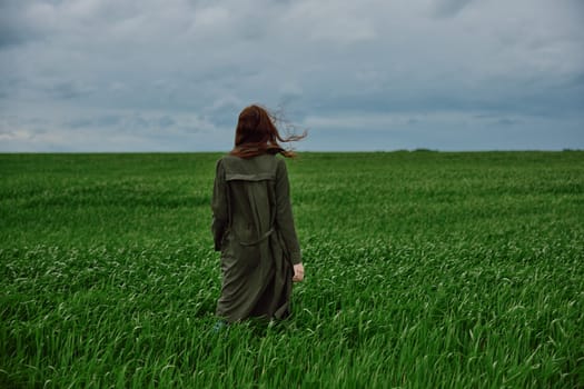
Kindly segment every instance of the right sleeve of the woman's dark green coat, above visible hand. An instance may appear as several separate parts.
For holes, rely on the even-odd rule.
[[[281,235],[286,250],[294,265],[303,261],[300,245],[294,226],[294,216],[290,202],[290,184],[288,171],[284,160],[278,161],[276,170],[276,228]]]

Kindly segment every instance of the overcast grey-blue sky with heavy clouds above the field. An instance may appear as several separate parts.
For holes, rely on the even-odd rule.
[[[0,151],[584,148],[581,0],[0,0]]]

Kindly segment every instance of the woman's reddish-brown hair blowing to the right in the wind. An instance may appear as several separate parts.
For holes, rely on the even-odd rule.
[[[251,158],[263,153],[280,153],[287,158],[295,157],[294,151],[281,148],[278,141],[300,140],[306,137],[306,131],[300,136],[291,134],[284,138],[274,124],[278,118],[260,106],[246,107],[239,113],[235,131],[235,147],[230,154],[240,158]]]

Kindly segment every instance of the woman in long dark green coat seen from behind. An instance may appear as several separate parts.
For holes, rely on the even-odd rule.
[[[235,147],[217,162],[212,192],[215,250],[221,251],[217,316],[227,322],[290,313],[291,282],[304,279],[294,227],[288,174],[281,158],[294,157],[270,114],[249,106],[239,114]]]

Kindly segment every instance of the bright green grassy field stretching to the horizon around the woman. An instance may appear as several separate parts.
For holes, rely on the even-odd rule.
[[[214,332],[218,157],[0,154],[0,388],[584,387],[584,152],[301,153],[294,316]]]

